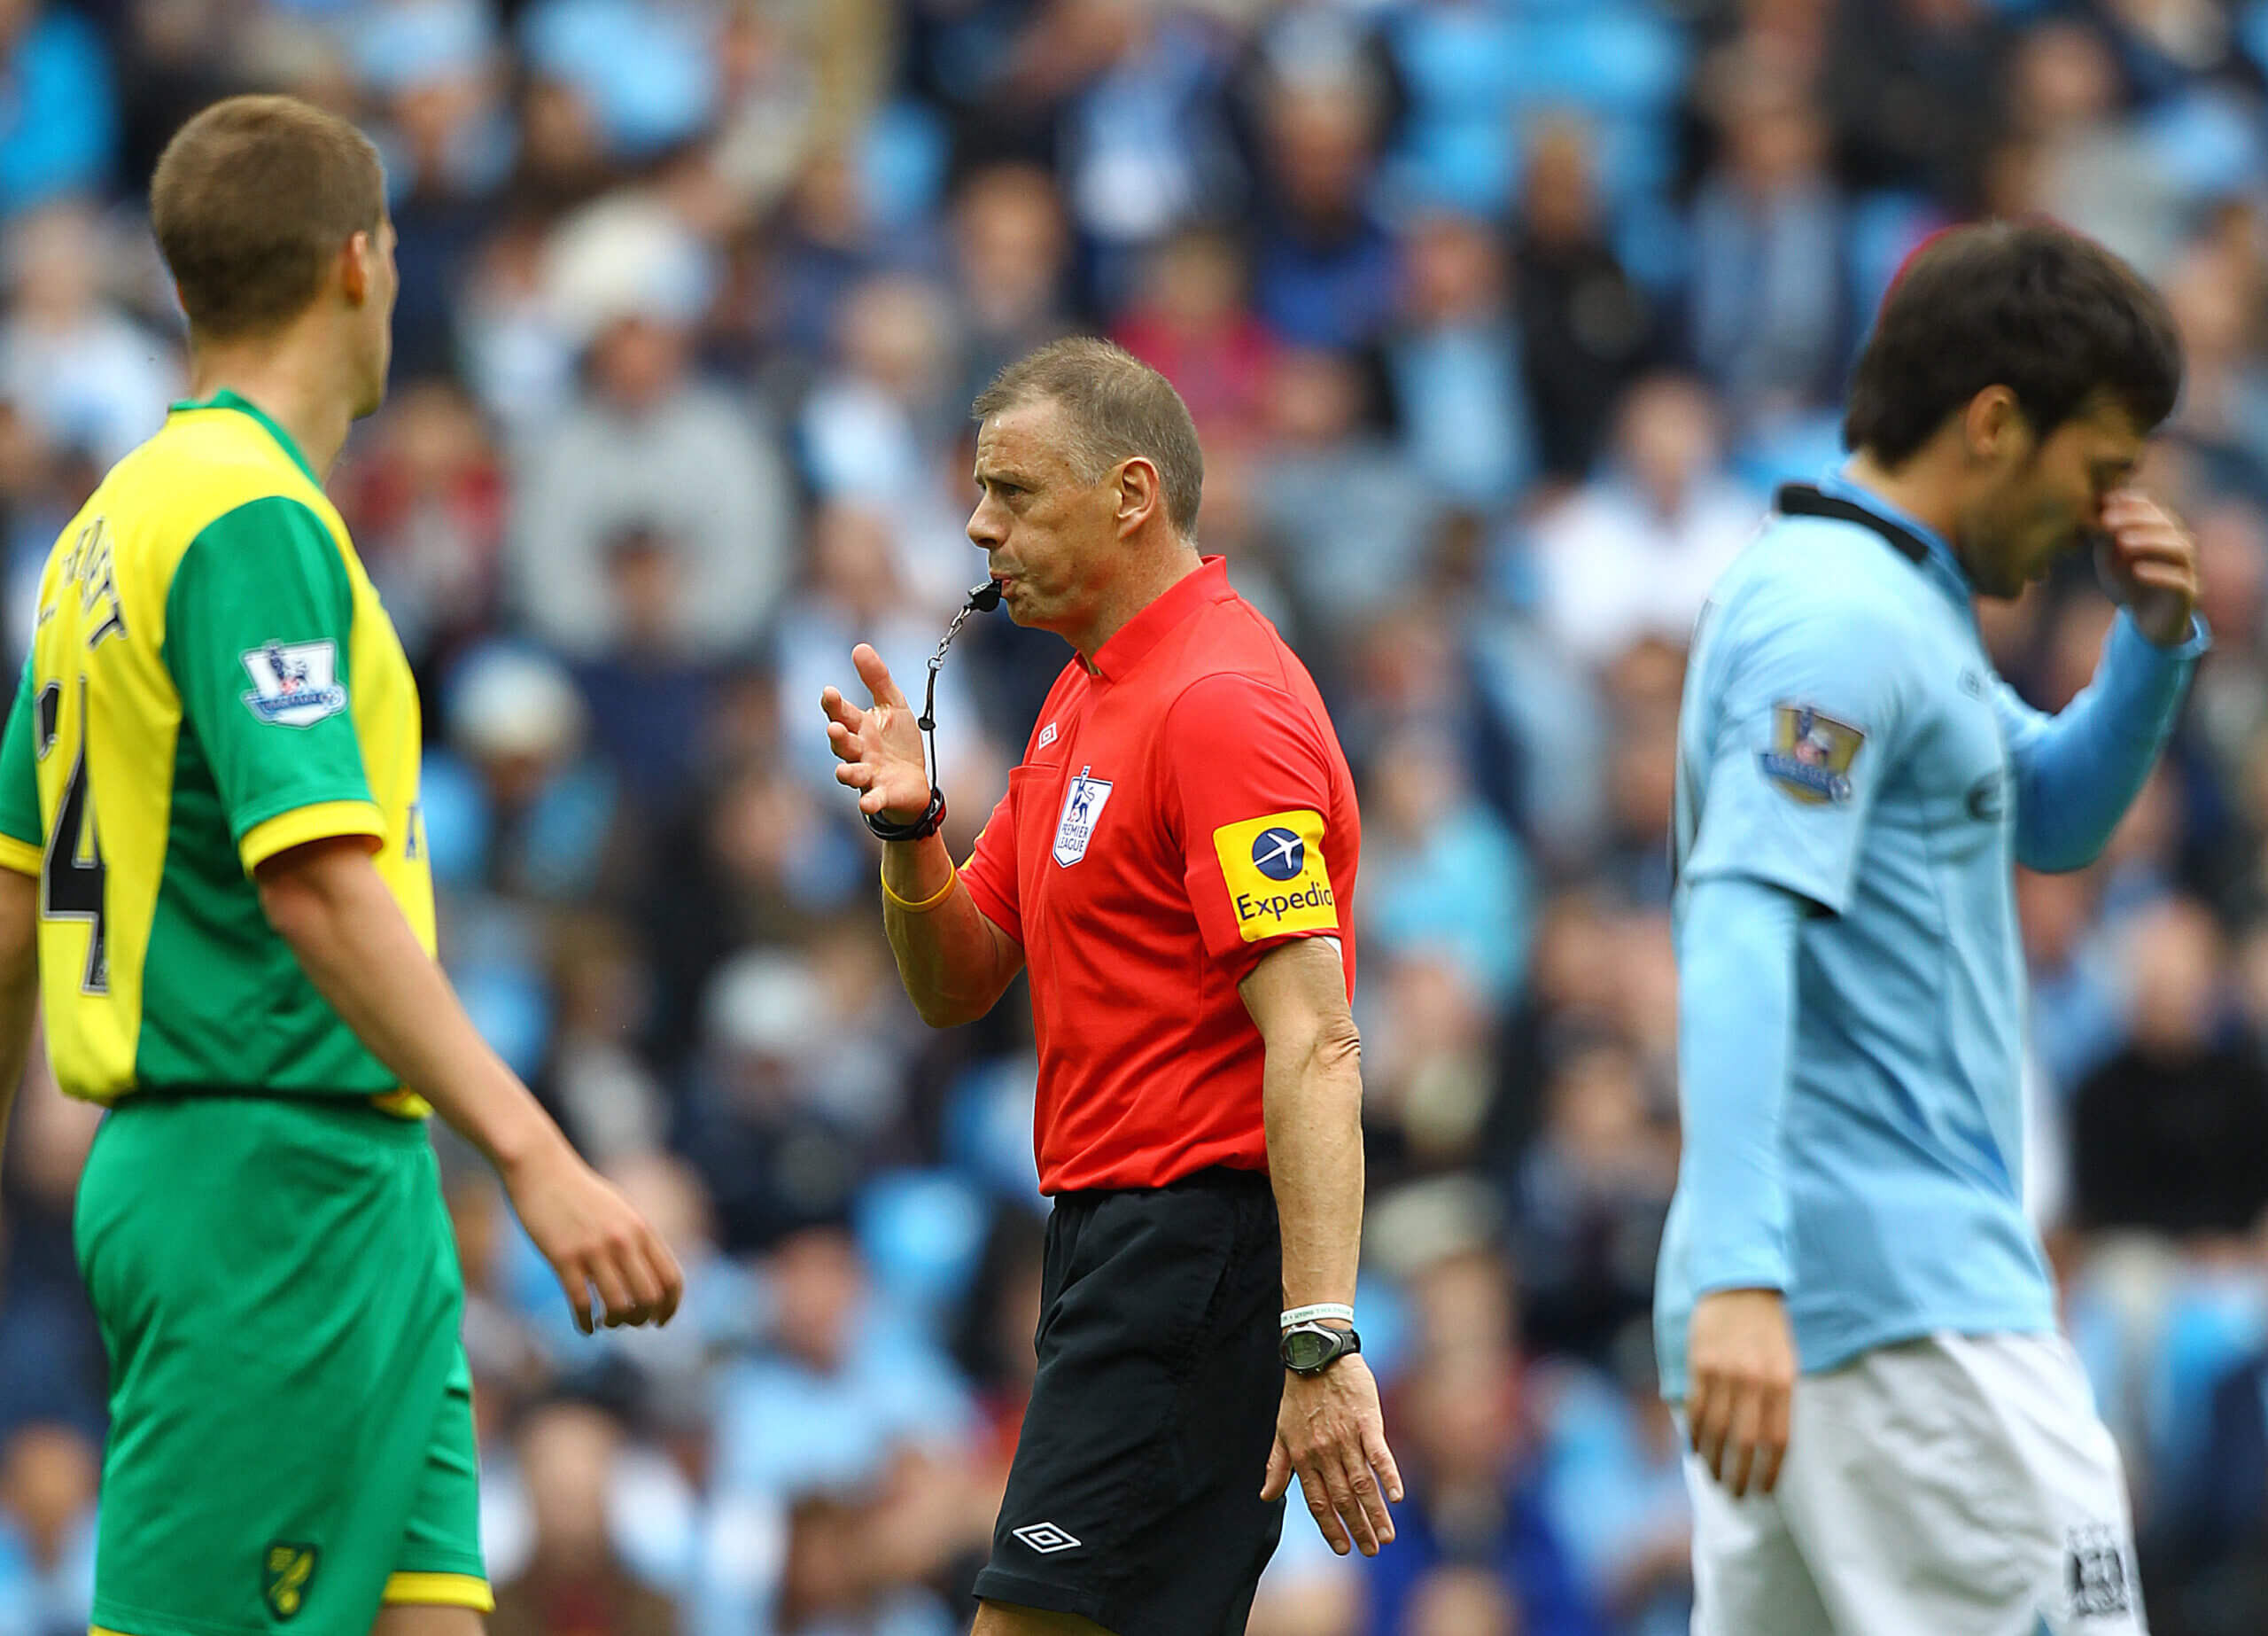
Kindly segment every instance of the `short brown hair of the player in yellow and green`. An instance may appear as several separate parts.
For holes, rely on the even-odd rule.
[[[370,138],[297,98],[227,98],[188,120],[150,177],[150,222],[197,336],[288,324],[331,256],[386,213]]]

